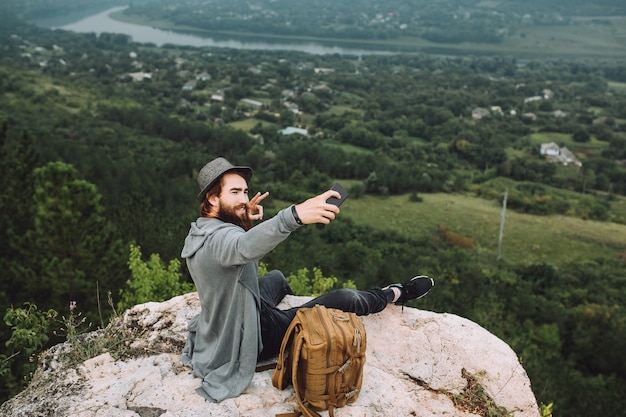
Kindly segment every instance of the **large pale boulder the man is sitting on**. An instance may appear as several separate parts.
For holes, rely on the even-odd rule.
[[[288,296],[282,306],[308,299]],[[274,388],[271,370],[255,374],[242,395],[221,403],[196,393],[200,380],[180,363],[180,352],[187,322],[199,308],[197,293],[190,293],[126,311],[112,323],[118,334],[134,339],[127,343],[133,356],[125,359],[103,353],[68,366],[64,358],[72,346],[55,346],[28,388],[0,406],[0,415],[274,417],[297,410],[293,389]],[[363,321],[367,362],[362,391],[354,404],[337,409],[336,417],[464,417],[485,415],[481,407],[489,405],[516,417],[539,416],[517,356],[479,325],[452,314],[397,306]],[[467,397],[473,402],[465,403]]]

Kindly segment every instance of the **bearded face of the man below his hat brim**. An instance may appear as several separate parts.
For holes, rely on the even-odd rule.
[[[248,183],[239,174],[228,172],[222,179],[222,193],[217,199],[217,217],[225,222],[241,226],[244,230],[252,228],[248,217]]]

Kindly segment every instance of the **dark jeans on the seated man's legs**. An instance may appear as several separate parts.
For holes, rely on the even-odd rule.
[[[339,289],[288,310],[276,306],[287,294],[293,294],[282,272],[274,270],[259,278],[261,292],[261,337],[263,351],[259,359],[268,359],[278,354],[283,336],[300,308],[323,305],[342,311],[365,316],[382,311],[393,300],[393,290],[374,288],[368,291]]]

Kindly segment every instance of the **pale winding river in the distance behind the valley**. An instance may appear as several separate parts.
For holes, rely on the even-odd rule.
[[[157,46],[166,44],[185,45],[194,47],[217,47],[217,48],[235,48],[235,49],[253,49],[253,50],[284,50],[284,51],[300,51],[315,55],[390,55],[397,51],[353,48],[346,44],[338,44],[336,42],[312,42],[312,41],[259,41],[253,36],[219,36],[219,35],[198,35],[172,30],[157,29],[149,26],[142,26],[132,23],[120,22],[113,19],[111,13],[124,10],[126,7],[114,7],[105,11],[99,11],[96,14],[82,16],[76,21],[58,24],[55,20],[36,20],[35,24],[47,26],[54,29],[64,29],[78,33],[120,33],[129,35],[134,42],[152,43]],[[67,19],[66,19],[67,20]]]

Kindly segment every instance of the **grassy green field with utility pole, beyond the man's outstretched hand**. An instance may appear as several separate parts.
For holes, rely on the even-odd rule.
[[[432,235],[437,226],[469,237],[477,254],[496,259],[502,209],[496,202],[465,194],[420,194],[348,199],[341,215],[379,230],[408,236]],[[626,251],[626,225],[566,216],[533,216],[507,210],[502,259],[511,263],[549,262],[555,265]]]

